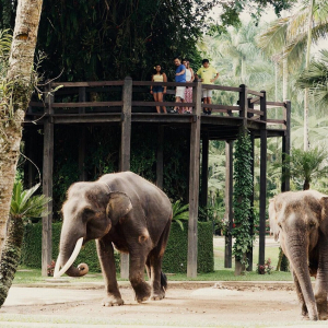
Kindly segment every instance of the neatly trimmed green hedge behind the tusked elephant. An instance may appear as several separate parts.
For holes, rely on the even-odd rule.
[[[58,256],[61,223],[52,224],[52,258]],[[163,258],[163,271],[167,273],[187,272],[188,255],[188,223],[184,231],[173,222],[167,247]],[[116,256],[118,269],[119,255]],[[25,227],[22,247],[22,265],[30,268],[42,267],[42,224],[28,224]],[[95,242],[89,242],[80,251],[77,263],[87,263],[90,271],[101,272]],[[214,270],[213,234],[211,222],[198,222],[198,272],[212,272]]]

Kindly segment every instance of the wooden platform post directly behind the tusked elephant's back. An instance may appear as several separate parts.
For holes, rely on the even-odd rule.
[[[132,79],[127,77],[122,87],[122,113],[121,113],[121,139],[120,139],[120,172],[130,169],[130,144],[131,144],[131,105],[132,105]],[[129,278],[129,255],[120,255],[120,277]]]

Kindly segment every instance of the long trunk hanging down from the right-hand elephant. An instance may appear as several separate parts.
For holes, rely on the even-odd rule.
[[[318,320],[318,311],[308,271],[307,243],[300,235],[288,241],[289,258],[296,276],[311,320]]]

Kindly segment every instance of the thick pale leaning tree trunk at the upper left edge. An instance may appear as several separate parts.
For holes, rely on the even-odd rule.
[[[32,68],[43,0],[19,0],[0,105],[0,259],[7,234],[12,188],[20,155],[22,122],[32,91]]]

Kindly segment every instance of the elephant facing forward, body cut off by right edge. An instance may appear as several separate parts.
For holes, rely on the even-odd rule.
[[[269,206],[270,227],[290,260],[302,316],[327,319],[328,197],[315,190],[288,191]],[[311,276],[316,277],[313,291]]]

